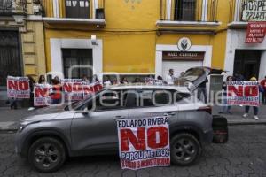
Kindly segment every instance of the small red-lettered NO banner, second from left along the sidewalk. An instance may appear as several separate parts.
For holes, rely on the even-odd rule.
[[[49,89],[51,86],[48,84],[36,84],[34,91],[34,104],[35,106],[45,106],[51,103],[49,96]]]

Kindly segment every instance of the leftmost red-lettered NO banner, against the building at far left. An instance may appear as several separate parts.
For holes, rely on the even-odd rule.
[[[7,77],[7,97],[29,98],[30,88],[27,77]]]

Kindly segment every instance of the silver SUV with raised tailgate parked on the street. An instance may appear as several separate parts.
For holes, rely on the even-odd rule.
[[[16,152],[38,171],[53,172],[67,157],[117,154],[116,119],[168,116],[171,161],[191,165],[204,144],[227,141],[226,119],[216,117],[214,131],[211,108],[193,94],[210,73],[221,70],[192,68],[178,86],[119,85],[80,102],[37,109],[20,121]]]

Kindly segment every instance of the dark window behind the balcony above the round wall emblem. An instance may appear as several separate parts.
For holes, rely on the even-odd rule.
[[[197,0],[176,0],[175,17],[177,21],[195,21]]]

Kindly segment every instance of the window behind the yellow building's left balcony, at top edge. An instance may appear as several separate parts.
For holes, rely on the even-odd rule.
[[[90,19],[90,0],[66,0],[66,18]]]

